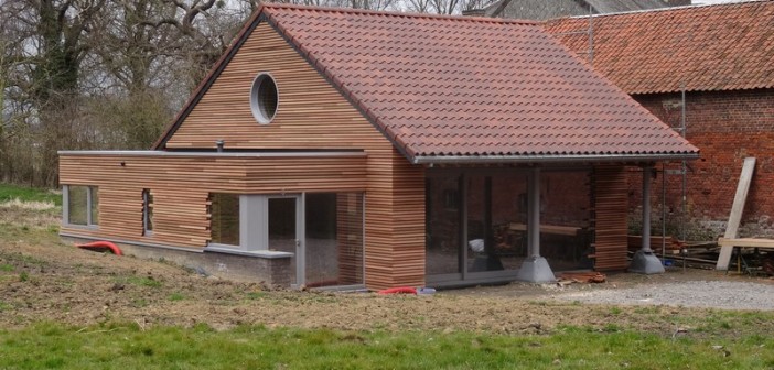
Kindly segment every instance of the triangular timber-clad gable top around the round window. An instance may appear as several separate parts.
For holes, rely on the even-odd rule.
[[[250,88],[260,73],[273,77],[279,94],[271,123],[250,110]],[[239,47],[166,142],[166,149],[347,149],[389,150],[363,115],[268,23]]]

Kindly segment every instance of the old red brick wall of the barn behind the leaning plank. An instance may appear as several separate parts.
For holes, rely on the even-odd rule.
[[[680,126],[680,94],[634,96],[645,108],[669,126]],[[701,151],[689,162],[687,214],[681,214],[679,175],[667,175],[665,204],[670,228],[686,219],[688,239],[712,239],[725,228],[742,161],[755,156],[755,174],[742,218],[742,236],[774,236],[774,89],[687,92],[687,138]],[[660,165],[658,166],[660,170]],[[678,163],[667,168],[678,170]],[[630,173],[630,208],[636,222],[641,205],[642,177]],[[662,174],[653,179],[654,227],[659,230]]]

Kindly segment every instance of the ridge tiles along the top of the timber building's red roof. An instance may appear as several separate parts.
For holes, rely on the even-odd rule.
[[[314,7],[314,6],[301,6],[301,4],[290,4],[290,3],[278,3],[278,2],[265,2],[262,8],[271,9],[298,9],[298,10],[315,10],[324,11],[330,13],[351,13],[351,14],[372,14],[372,15],[390,15],[398,18],[418,18],[418,19],[439,19],[439,20],[451,20],[451,21],[464,21],[464,22],[476,22],[476,23],[501,23],[501,24],[527,24],[527,25],[539,25],[541,22],[531,20],[514,20],[514,19],[502,19],[502,18],[490,18],[490,17],[467,17],[467,15],[450,15],[450,14],[430,14],[430,13],[417,13],[417,12],[400,12],[390,10],[369,10],[369,9],[353,9],[353,8],[336,8],[336,7]]]

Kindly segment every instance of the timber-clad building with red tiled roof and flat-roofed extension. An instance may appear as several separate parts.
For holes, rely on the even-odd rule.
[[[299,286],[540,281],[625,269],[624,166],[696,156],[537,23],[265,4],[153,150],[61,153],[62,235]]]

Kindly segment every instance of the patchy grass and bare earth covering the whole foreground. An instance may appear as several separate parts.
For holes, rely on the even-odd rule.
[[[22,204],[2,206],[8,199]],[[56,207],[26,204],[35,202],[61,204],[47,191],[0,184],[0,370],[774,369],[771,312],[256,291],[75,252],[56,238]],[[341,315],[321,315],[332,309]],[[549,316],[522,317],[529,312]],[[239,317],[258,326],[217,325]],[[485,318],[496,326],[479,326]],[[183,327],[204,320],[227,329]],[[336,320],[358,325],[330,329]],[[556,325],[493,333],[541,320]],[[673,327],[690,330],[673,338]]]

